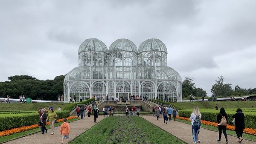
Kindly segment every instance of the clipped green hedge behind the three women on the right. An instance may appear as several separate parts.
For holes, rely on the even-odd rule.
[[[229,109],[225,109],[227,112],[227,123],[230,125],[233,125],[232,123],[232,116],[236,113],[235,111],[230,111]],[[179,116],[190,118],[190,115],[192,113],[193,109],[183,109],[179,111]],[[202,114],[202,120],[204,121],[212,121],[217,122],[217,115],[219,113],[219,110],[214,109],[200,109],[200,112]],[[244,123],[245,127],[256,129],[256,112],[244,112]]]

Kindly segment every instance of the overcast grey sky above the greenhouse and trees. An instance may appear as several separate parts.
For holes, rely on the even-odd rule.
[[[208,95],[220,75],[256,88],[256,0],[1,0],[0,81],[65,75],[88,38],[158,38],[168,66]]]

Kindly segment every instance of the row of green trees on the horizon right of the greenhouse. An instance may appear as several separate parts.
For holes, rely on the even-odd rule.
[[[193,83],[194,78],[186,77],[182,83],[182,96],[183,98],[189,95],[194,95],[195,97],[207,96],[207,92],[201,87],[196,88],[195,83]],[[224,84],[224,76],[219,76],[216,83],[212,85],[211,92],[215,96],[241,96],[241,95],[254,95],[256,94],[256,88],[254,89],[243,89],[236,85],[235,89],[232,88],[232,84]]]

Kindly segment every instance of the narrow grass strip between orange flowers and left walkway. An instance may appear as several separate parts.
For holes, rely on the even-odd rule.
[[[80,118],[73,118],[73,119],[68,120],[67,122],[70,123],[72,121],[77,121],[79,119]],[[55,124],[55,127],[60,126],[62,123],[63,122],[59,122],[58,124]],[[47,125],[46,128],[50,129],[50,126]],[[40,131],[41,131],[41,129],[40,129],[40,127],[38,127],[34,130],[28,130],[28,131],[25,131],[25,132],[15,133],[15,134],[9,135],[9,136],[3,136],[3,137],[0,137],[0,143],[6,142],[6,141],[11,141],[13,139],[20,138],[20,137],[30,135],[30,134],[33,134],[33,133],[36,133],[36,132],[40,132]]]

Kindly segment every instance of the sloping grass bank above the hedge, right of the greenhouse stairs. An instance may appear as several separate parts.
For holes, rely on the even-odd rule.
[[[224,108],[256,108],[256,101],[195,101],[195,102],[172,102],[166,103],[159,101],[162,104],[171,104],[177,109],[193,109],[198,107],[199,109],[214,109],[217,106],[219,109]]]

